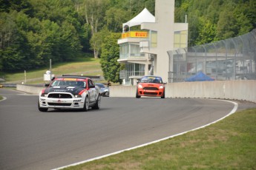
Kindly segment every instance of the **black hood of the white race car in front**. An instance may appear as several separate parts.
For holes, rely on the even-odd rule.
[[[73,95],[79,94],[83,89],[79,86],[51,86],[45,89],[45,93],[49,92],[70,92]]]

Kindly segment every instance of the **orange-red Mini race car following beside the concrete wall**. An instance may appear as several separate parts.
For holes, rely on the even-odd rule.
[[[137,81],[136,98],[141,96],[165,98],[165,84],[162,78],[154,75],[146,75]]]

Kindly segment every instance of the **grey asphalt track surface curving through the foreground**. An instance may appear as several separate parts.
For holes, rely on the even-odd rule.
[[[102,98],[99,110],[39,112],[36,95],[0,95],[0,169],[56,169],[195,129],[234,108],[208,99]]]

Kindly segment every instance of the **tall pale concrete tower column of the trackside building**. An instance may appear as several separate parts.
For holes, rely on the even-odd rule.
[[[168,81],[169,58],[168,50],[174,50],[174,31],[188,30],[187,23],[174,24],[174,0],[156,0],[155,23],[142,23],[142,30],[157,31],[157,48],[149,49],[149,53],[157,54],[154,60],[154,75],[160,75],[163,81]],[[185,16],[184,16],[185,17]],[[172,60],[172,58],[171,58]],[[170,64],[172,71],[173,65]]]

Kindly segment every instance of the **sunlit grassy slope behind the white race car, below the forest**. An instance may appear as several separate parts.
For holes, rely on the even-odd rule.
[[[76,61],[65,62],[61,64],[52,64],[52,73],[54,75],[62,74],[77,74],[77,75],[103,75],[102,69],[99,64],[99,58],[77,58]],[[27,84],[39,84],[44,83],[43,76],[49,69],[48,67],[36,70],[26,70]],[[16,82],[25,80],[24,71],[16,73],[1,73],[0,77],[4,77],[8,82]]]

